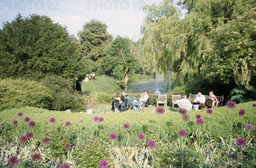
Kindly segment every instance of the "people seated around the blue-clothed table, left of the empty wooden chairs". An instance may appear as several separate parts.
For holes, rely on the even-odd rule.
[[[125,109],[125,98],[128,98],[128,95],[125,93],[125,91],[122,92],[122,95],[120,96],[119,92],[116,92],[116,96],[112,102],[112,109],[115,110],[116,106],[118,105],[118,110],[120,112],[123,112]],[[149,106],[149,98],[148,98],[148,92],[145,91],[143,93],[140,94],[140,98],[139,98],[140,102],[146,102],[145,105]]]

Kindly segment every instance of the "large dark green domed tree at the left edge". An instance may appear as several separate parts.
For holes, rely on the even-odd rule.
[[[84,57],[67,29],[47,16],[18,14],[0,30],[1,78],[40,79],[46,74],[64,78],[82,75]]]

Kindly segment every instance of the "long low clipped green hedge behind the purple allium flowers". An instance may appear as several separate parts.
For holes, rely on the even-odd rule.
[[[199,111],[190,111],[189,115],[191,117],[190,121],[186,122],[183,126],[188,132],[188,137],[192,136],[198,125],[196,124],[195,115],[201,114],[204,119],[204,125],[201,127],[203,133],[210,134],[209,126],[211,126],[212,138],[219,140],[219,137],[227,139],[230,135],[230,121],[233,122],[233,137],[241,134],[241,116],[238,115],[240,109],[245,109],[246,115],[243,117],[243,127],[250,123],[253,124],[253,115],[254,110],[252,104],[254,102],[248,102],[243,104],[238,104],[237,108],[234,110],[227,109],[226,106],[213,109],[212,120],[208,121],[209,115],[206,113],[206,110]],[[117,143],[124,145],[124,141],[129,134],[129,144],[135,145],[137,143],[137,134],[143,132],[147,140],[154,139],[157,140],[158,137],[158,128],[162,131],[162,140],[172,140],[177,138],[177,132],[182,127],[181,115],[178,112],[170,112],[166,108],[166,112],[160,117],[154,112],[155,107],[150,106],[146,109],[145,112],[107,112],[106,114],[99,115],[105,120],[102,123],[102,136],[103,140],[108,141],[108,136],[111,133],[116,133],[119,135],[119,140]],[[17,117],[17,112],[23,112],[22,117]],[[232,119],[230,114],[232,113]],[[48,122],[50,118],[56,119],[56,129],[61,126],[66,121],[72,123],[71,127],[68,129],[70,137],[73,142],[76,141],[76,138],[81,135],[83,138],[87,139],[90,135],[96,136],[99,135],[100,123],[94,123],[92,118],[95,114],[84,114],[84,113],[67,113],[67,112],[58,112],[58,111],[48,111],[44,109],[38,109],[34,107],[23,107],[20,109],[5,109],[0,113],[0,123],[6,123],[9,126],[9,137],[20,137],[24,132],[32,131],[34,132],[34,137],[41,142],[42,137],[45,136],[46,128],[51,128],[52,124]],[[36,122],[34,128],[27,126],[27,123],[24,122],[24,118],[29,117],[31,120]],[[18,120],[19,123],[17,126],[12,125],[13,120]],[[80,120],[84,120],[83,123]],[[129,123],[131,129],[125,131],[122,129],[124,123]],[[80,127],[81,126],[81,127]],[[1,135],[4,134],[4,129],[0,128]],[[18,130],[18,132],[17,132]],[[122,138],[121,138],[122,137]],[[122,139],[122,142],[121,142]]]

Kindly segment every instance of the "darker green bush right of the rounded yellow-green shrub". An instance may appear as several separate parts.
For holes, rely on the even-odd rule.
[[[64,111],[71,109],[72,112],[80,112],[86,109],[84,98],[75,93],[73,82],[60,76],[46,76],[40,81],[54,94],[52,95],[52,110]]]

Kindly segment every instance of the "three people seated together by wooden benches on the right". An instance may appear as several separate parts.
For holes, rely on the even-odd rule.
[[[212,105],[213,102],[214,105]],[[209,92],[209,98],[207,100],[205,99],[205,96],[201,94],[201,92],[198,92],[193,102],[190,102],[189,99],[187,99],[187,96],[183,95],[182,99],[179,100],[179,103],[186,103],[187,110],[194,109],[195,105],[205,105],[207,108],[212,108],[212,106],[218,107],[218,99],[213,94],[213,91]],[[201,109],[201,106],[198,106],[198,109]]]

